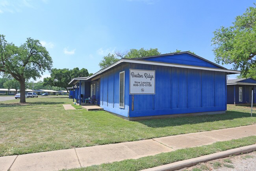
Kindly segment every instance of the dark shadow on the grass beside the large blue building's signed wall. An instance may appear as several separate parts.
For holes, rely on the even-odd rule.
[[[252,114],[252,116],[256,116]],[[177,118],[164,118],[164,119],[150,119],[150,120],[138,120],[134,122],[139,122],[148,127],[171,127],[171,126],[181,126],[186,124],[200,124],[204,122],[214,122],[214,121],[224,121],[233,120],[236,118],[248,118],[251,117],[250,113],[237,112],[237,111],[226,111],[224,114],[215,115],[200,115],[200,116],[183,116]]]

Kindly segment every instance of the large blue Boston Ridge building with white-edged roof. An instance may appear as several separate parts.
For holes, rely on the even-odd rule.
[[[236,73],[239,71],[180,52],[122,58],[92,76],[74,78],[70,84],[77,85],[78,95],[84,98],[95,95],[105,111],[138,120],[224,113],[226,75]]]

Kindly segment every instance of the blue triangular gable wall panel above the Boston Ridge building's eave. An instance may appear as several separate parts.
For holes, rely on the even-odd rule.
[[[184,65],[195,65],[202,67],[212,67],[212,68],[220,68],[217,65],[214,65],[206,60],[198,58],[197,56],[190,55],[188,53],[183,54],[175,54],[175,55],[166,55],[166,56],[156,56],[151,58],[144,58],[143,60],[150,60],[156,62],[167,62],[174,64],[184,64]]]

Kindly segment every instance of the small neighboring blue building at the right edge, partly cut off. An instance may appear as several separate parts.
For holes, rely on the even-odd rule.
[[[256,80],[252,78],[239,78],[227,80],[227,104],[247,104],[256,102]]]

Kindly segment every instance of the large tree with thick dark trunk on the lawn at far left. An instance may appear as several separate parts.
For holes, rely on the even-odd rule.
[[[9,74],[20,83],[20,103],[26,103],[26,79],[40,78],[41,74],[52,68],[52,58],[39,40],[27,38],[26,43],[15,46],[7,43],[0,35],[0,72]]]

